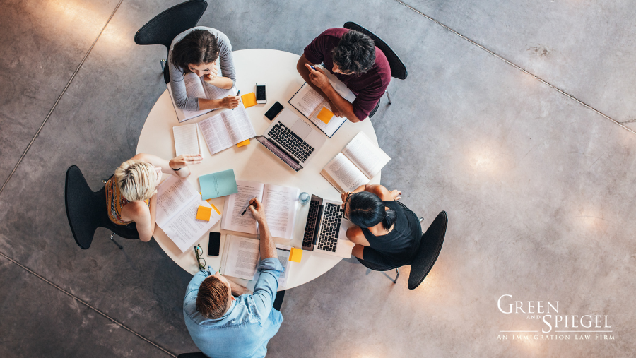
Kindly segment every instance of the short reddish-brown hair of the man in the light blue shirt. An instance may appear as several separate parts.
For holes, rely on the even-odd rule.
[[[199,286],[196,294],[196,311],[210,319],[220,318],[230,308],[228,285],[214,276],[208,276]]]

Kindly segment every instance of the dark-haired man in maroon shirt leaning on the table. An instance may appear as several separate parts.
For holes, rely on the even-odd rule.
[[[353,103],[331,87],[322,69],[314,66],[320,63],[355,93]],[[371,37],[346,28],[331,28],[318,35],[305,47],[296,68],[314,90],[329,100],[336,116],[352,122],[369,116],[391,81],[387,56],[375,47]]]

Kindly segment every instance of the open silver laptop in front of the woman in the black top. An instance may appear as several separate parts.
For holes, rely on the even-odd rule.
[[[349,258],[355,246],[347,239],[347,229],[351,226],[351,222],[342,217],[341,202],[312,195],[302,249]]]

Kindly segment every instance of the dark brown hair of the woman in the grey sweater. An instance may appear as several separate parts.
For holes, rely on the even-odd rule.
[[[218,59],[218,42],[208,30],[194,30],[175,44],[170,54],[172,64],[189,73],[189,64],[209,64]]]

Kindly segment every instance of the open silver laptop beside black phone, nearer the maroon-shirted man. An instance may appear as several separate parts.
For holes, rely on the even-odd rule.
[[[291,109],[283,108],[262,136],[254,137],[296,172],[309,162],[326,141]]]

